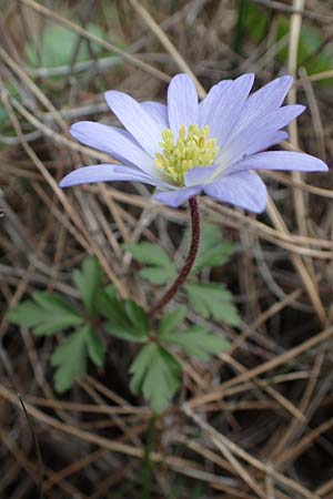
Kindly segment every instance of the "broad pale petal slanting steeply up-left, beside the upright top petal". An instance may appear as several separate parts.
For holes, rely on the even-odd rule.
[[[124,128],[152,157],[159,151],[163,128],[134,99],[125,93],[110,90],[105,101]]]

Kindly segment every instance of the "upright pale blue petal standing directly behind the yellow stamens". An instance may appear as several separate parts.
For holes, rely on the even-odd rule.
[[[178,138],[181,125],[198,124],[199,104],[195,85],[186,74],[174,77],[168,88],[168,113],[170,129]]]

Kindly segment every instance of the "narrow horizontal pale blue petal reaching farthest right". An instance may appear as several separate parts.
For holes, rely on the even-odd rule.
[[[228,169],[230,173],[246,170],[285,170],[297,172],[326,172],[327,165],[310,154],[290,151],[269,151],[254,154]]]

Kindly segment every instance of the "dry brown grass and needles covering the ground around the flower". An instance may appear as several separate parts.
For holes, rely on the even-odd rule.
[[[150,202],[143,185],[58,187],[64,172],[104,157],[67,130],[82,119],[111,122],[102,100],[107,89],[162,100],[170,77],[185,71],[203,96],[214,82],[242,72],[254,71],[258,84],[294,73],[290,102],[297,99],[309,112],[283,145],[332,164],[333,93],[323,82],[333,65],[309,78],[295,59],[302,23],[316,26],[326,42],[332,38],[332,2],[310,0],[305,10],[297,0],[258,2],[270,16],[261,43],[246,32],[234,38],[241,3],[2,2],[1,101],[9,115],[0,135],[3,312],[36,288],[74,297],[70,272],[87,253],[99,258],[121,296],[144,304],[148,288],[131,275],[121,243],[145,237],[171,252],[180,244],[186,213]],[[282,42],[279,12],[290,23]],[[101,26],[107,38],[88,22]],[[42,60],[50,23],[79,34],[70,64],[53,78]],[[41,62],[31,69],[24,51],[33,33]],[[87,43],[82,70],[78,53]],[[284,65],[275,57],[281,44],[289,51]],[[236,244],[226,275],[216,277],[232,287],[243,323],[240,330],[213,325],[231,340],[228,354],[209,365],[188,361],[181,394],[157,422],[151,498],[333,497],[332,174],[264,177],[272,198],[258,218],[200,200],[203,218]],[[150,410],[128,390],[133,350],[111,344],[105,369],[57,398],[49,365],[53,340],[36,340],[4,316],[0,334],[1,497],[38,497],[36,447],[19,391],[43,456],[44,497],[143,499]]]

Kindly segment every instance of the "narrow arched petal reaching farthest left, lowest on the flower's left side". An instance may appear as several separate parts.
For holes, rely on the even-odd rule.
[[[65,175],[60,182],[60,187],[70,187],[79,184],[92,184],[94,182],[143,182],[150,185],[160,185],[160,182],[150,175],[145,175],[138,169],[119,164],[95,164],[83,166]]]

